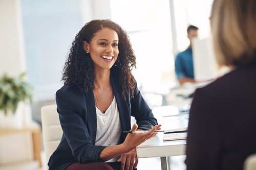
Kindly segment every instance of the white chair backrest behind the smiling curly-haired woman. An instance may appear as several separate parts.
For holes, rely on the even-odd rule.
[[[41,108],[42,140],[45,147],[46,163],[58,147],[62,137],[62,129],[56,105],[43,106]]]

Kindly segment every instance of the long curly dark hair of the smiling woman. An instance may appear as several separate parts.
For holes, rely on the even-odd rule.
[[[103,28],[114,30],[119,38],[118,58],[113,66],[119,72],[119,83],[122,86],[122,96],[129,90],[133,98],[135,79],[132,69],[136,68],[136,57],[129,36],[117,23],[109,19],[92,20],[82,27],[72,42],[70,53],[65,62],[61,80],[76,92],[88,93],[95,88],[94,64],[90,54],[84,52],[83,41],[91,42],[95,33]]]

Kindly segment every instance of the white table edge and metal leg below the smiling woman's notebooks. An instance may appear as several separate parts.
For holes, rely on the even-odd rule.
[[[185,155],[186,140],[164,141],[162,145],[144,145],[137,147],[138,158],[160,157],[161,169],[167,170],[169,156]]]

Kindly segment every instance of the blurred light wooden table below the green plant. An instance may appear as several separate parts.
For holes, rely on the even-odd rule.
[[[24,126],[23,128],[8,128],[8,129],[0,129],[0,135],[8,135],[15,133],[23,133],[28,132],[32,135],[33,142],[33,154],[34,160],[37,160],[39,166],[42,167],[41,163],[41,128],[37,123],[33,123],[29,126]]]

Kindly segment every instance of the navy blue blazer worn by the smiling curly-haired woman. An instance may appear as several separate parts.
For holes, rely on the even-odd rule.
[[[143,99],[137,86],[134,99],[126,90],[126,100],[122,97],[116,70],[111,71],[112,89],[116,97],[122,131],[131,130],[131,116],[136,118],[139,129],[150,130],[157,125],[157,119]],[[77,93],[67,85],[56,92],[57,112],[63,130],[61,141],[50,157],[49,170],[65,169],[68,165],[80,162],[99,162],[99,155],[105,146],[95,145],[97,119],[93,91]],[[122,134],[123,142],[126,135]]]

